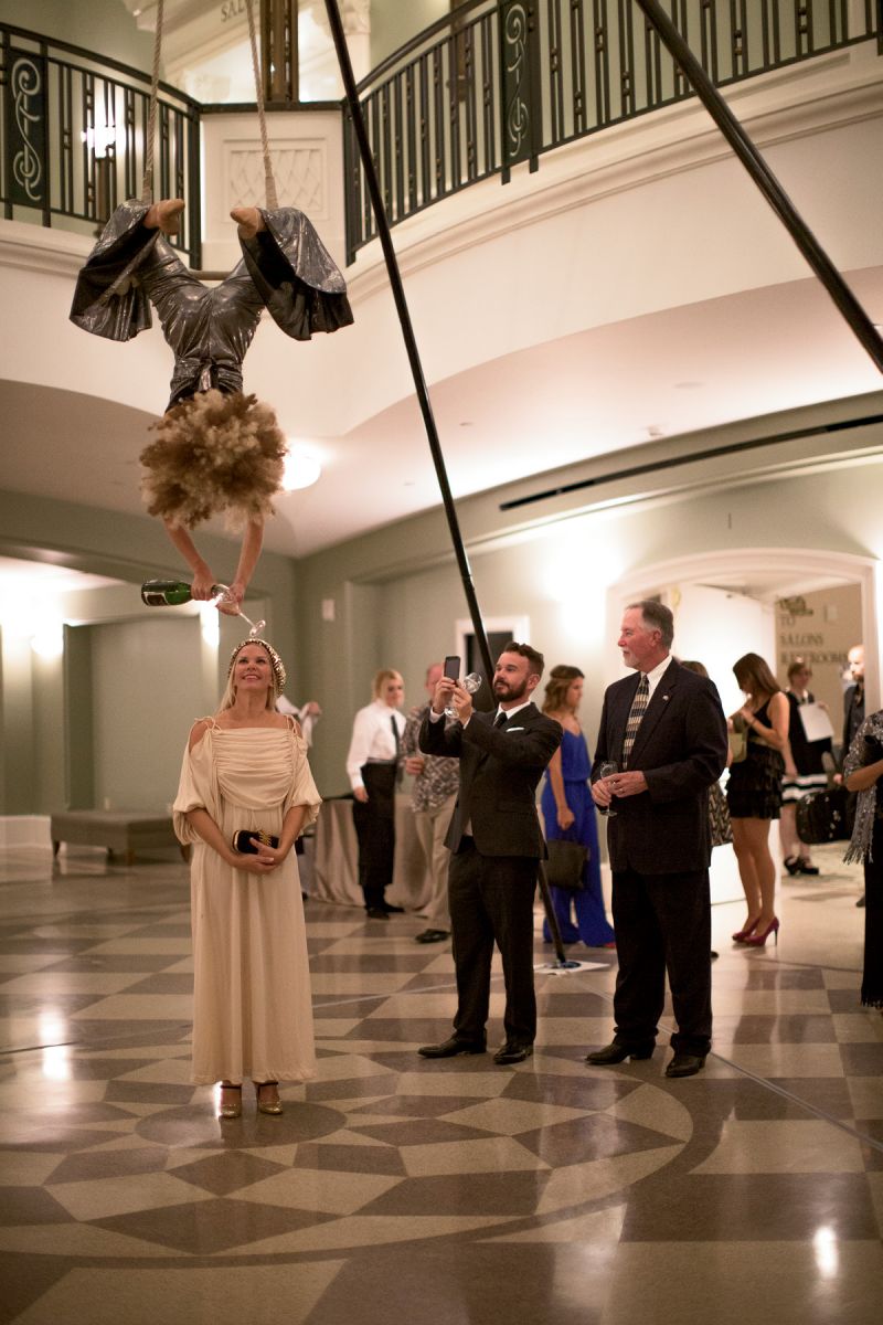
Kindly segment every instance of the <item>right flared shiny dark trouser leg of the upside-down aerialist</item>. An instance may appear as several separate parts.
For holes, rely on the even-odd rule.
[[[273,321],[295,341],[349,326],[347,282],[295,207],[261,208],[266,229],[240,238],[245,265]]]

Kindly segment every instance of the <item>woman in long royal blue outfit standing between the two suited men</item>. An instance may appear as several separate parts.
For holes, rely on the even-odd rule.
[[[555,718],[564,729],[564,738],[552,755],[543,783],[540,804],[545,836],[547,840],[563,837],[579,841],[589,848],[582,868],[582,888],[576,892],[551,888],[549,892],[563,942],[576,943],[581,939],[586,947],[616,947],[601,893],[598,825],[589,792],[592,761],[576,716],[582,698],[582,681],[584,676],[576,666],[561,664],[552,668],[543,702],[543,713]],[[576,912],[576,924],[572,910]],[[547,943],[552,941],[548,921],[543,922],[543,938]]]

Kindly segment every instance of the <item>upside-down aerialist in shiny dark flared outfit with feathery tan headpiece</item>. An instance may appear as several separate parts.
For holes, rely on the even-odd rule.
[[[140,454],[151,515],[193,571],[192,595],[216,578],[189,530],[220,511],[244,527],[238,566],[221,611],[236,613],[257,566],[287,449],[273,409],[242,394],[242,360],[266,307],[295,341],[352,322],[343,276],[311,223],[293,207],[237,207],[242,261],[208,288],[187,270],[167,235],[184,203],[116,208],[82,268],[70,319],[83,331],[130,341],[151,326],[150,303],[175,354],[172,396],[156,441]]]

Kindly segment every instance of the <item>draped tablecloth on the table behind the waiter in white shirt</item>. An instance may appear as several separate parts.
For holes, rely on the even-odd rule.
[[[359,886],[359,844],[352,823],[352,799],[324,800],[315,827],[312,886],[316,901],[364,906]],[[396,796],[396,865],[387,901],[409,912],[429,900],[426,860],[414,827],[409,795]]]

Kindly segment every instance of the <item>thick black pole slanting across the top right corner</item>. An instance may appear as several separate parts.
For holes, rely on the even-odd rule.
[[[637,0],[637,4],[641,5],[647,21],[653,24],[658,32],[659,38],[669,49],[669,53],[675,64],[679,65],[684,77],[692,83],[696,95],[714,122],[718,125],[718,129],[721,131],[757,188],[776,212],[780,221],[785,225],[788,233],[794,240],[794,244],[801,250],[810,268],[870,354],[878,370],[883,372],[883,341],[880,339],[874,323],[829,258],[825,249],[797,212],[788,193],[781,187],[772,170],[760,155],[684,38],[678,32],[673,20],[659,4],[659,0]]]

